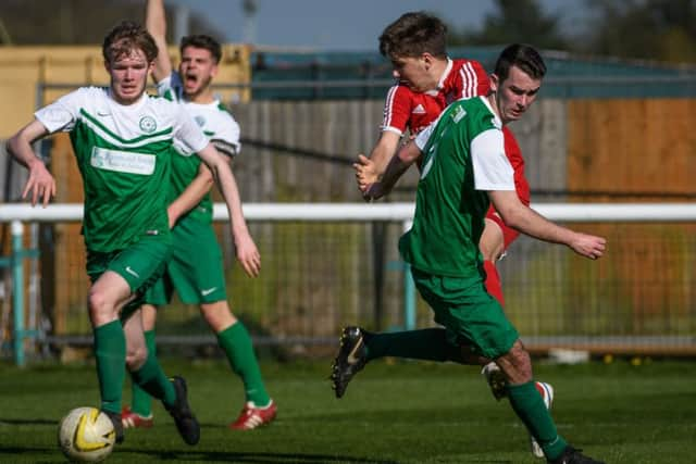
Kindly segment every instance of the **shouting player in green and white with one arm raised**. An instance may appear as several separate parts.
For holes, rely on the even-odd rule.
[[[166,21],[162,0],[148,0],[146,25],[162,50],[166,50]],[[201,125],[228,163],[239,152],[239,125],[215,99],[211,81],[217,73],[221,47],[204,35],[187,36],[181,42],[178,72],[172,70],[167,53],[154,61],[152,77],[158,92],[178,103]],[[176,146],[186,153],[186,147]],[[210,328],[215,333],[232,369],[245,386],[246,401],[239,416],[229,428],[249,430],[269,424],[276,415],[276,405],[269,397],[261,369],[253,352],[251,338],[244,324],[229,311],[225,293],[222,251],[212,227],[210,171],[196,156],[175,156],[172,163],[172,183],[169,185],[170,224],[173,255],[164,276],[146,297],[151,304],[142,306],[145,337],[148,348],[156,349],[154,325],[157,306],[171,301],[176,289],[185,303],[197,304]],[[237,259],[247,274],[259,272],[259,252],[249,236],[241,205],[233,211],[233,237]],[[195,250],[195,252],[194,252]],[[151,399],[136,384],[133,385],[133,406],[123,412],[125,427],[150,427],[153,415]]]

